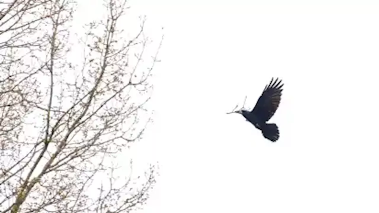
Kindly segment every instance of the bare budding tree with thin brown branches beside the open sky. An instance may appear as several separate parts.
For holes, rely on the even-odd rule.
[[[125,31],[127,1],[107,0],[104,20],[71,42],[75,7],[0,4],[1,213],[129,212],[155,183],[154,165],[135,177],[132,161],[117,159],[150,121],[144,106],[163,37],[147,55],[145,19]]]

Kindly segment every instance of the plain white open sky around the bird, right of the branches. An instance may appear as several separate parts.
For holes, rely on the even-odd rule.
[[[141,142],[161,176],[141,212],[378,212],[379,5],[182,2],[132,4],[165,34]],[[277,143],[225,114],[271,77]]]

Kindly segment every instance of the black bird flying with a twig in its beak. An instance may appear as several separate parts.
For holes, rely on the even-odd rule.
[[[273,80],[274,78],[272,78],[270,83],[266,85],[252,111],[241,109],[238,111],[233,110],[230,113],[242,114],[247,121],[251,122],[257,129],[262,131],[265,138],[275,142],[279,139],[278,127],[276,124],[268,124],[266,122],[274,115],[276,109],[279,107],[280,97],[282,96],[283,91],[282,87],[284,84],[280,84],[282,83],[282,80],[278,81],[278,78],[276,78],[274,82]]]

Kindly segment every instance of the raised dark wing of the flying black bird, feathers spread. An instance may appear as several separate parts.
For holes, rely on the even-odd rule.
[[[261,119],[261,121],[268,121],[279,107],[280,96],[282,96],[282,87],[284,84],[280,84],[282,83],[282,80],[278,82],[278,78],[276,78],[274,82],[273,80],[274,78],[272,78],[270,83],[266,85],[262,95],[259,97],[252,110],[252,113]]]

